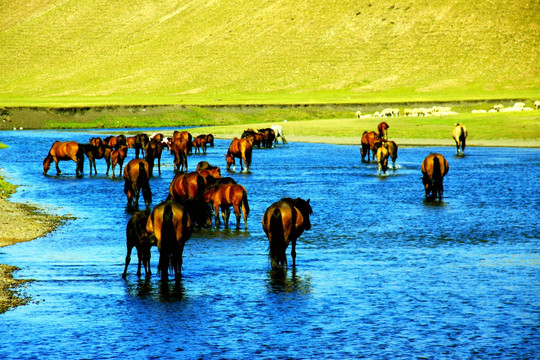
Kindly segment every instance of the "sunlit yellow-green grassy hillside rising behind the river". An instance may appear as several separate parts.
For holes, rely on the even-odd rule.
[[[540,2],[3,0],[0,105],[540,97]]]

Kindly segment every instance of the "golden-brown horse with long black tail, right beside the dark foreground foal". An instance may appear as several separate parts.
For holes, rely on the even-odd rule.
[[[169,264],[178,279],[182,275],[184,245],[193,231],[193,222],[187,210],[174,201],[157,205],[146,222],[146,231],[153,233],[156,238],[161,280],[168,280]]]

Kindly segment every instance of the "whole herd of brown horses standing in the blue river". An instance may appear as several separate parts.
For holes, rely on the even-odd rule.
[[[365,131],[362,134],[362,161],[373,161],[377,158],[379,175],[386,173],[388,158],[392,159],[395,171],[398,145],[388,139],[389,125],[381,122],[377,131]],[[464,155],[467,130],[462,124],[456,124],[452,133],[456,141],[458,155]],[[286,143],[281,126],[272,128],[247,129],[240,138],[234,138],[225,154],[227,170],[231,166],[235,171],[235,159],[239,159],[241,171],[249,172],[254,147],[273,147],[278,144],[278,138]],[[91,138],[87,144],[75,141],[55,141],[43,160],[43,174],[47,174],[54,162],[57,175],[61,174],[58,166],[60,161],[74,161],[76,175],[81,176],[84,170],[84,158],[90,163],[97,174],[96,159],[105,159],[106,175],[112,168],[115,177],[115,167],[120,166],[124,178],[124,193],[127,205],[134,209],[133,215],[126,226],[127,255],[123,277],[131,260],[131,252],[135,247],[138,255],[137,275],[141,275],[141,266],[145,274],[150,275],[150,250],[156,246],[160,252],[158,273],[162,280],[167,280],[169,270],[176,278],[181,276],[182,254],[186,241],[194,229],[212,226],[219,227],[221,219],[228,227],[230,208],[236,216],[236,228],[240,228],[241,218],[247,229],[247,218],[250,212],[248,192],[231,177],[222,177],[220,168],[206,161],[197,164],[195,171],[188,171],[188,155],[202,151],[206,153],[207,145],[214,145],[211,134],[199,135],[195,138],[187,131],[174,131],[172,137],[163,134],[151,136],[140,133],[132,137],[124,135],[109,136],[105,139]],[[135,158],[128,161],[128,149],[133,148]],[[169,185],[167,199],[156,205],[150,213],[139,211],[139,198],[142,193],[147,209],[152,204],[150,179],[154,176],[153,169],[157,161],[158,173],[161,175],[161,154],[167,149],[174,156],[175,176]],[[461,150],[461,152],[460,152]],[[442,199],[443,179],[448,173],[448,162],[443,155],[429,154],[421,165],[422,183],[428,200]],[[313,210],[310,200],[301,198],[282,198],[271,204],[262,218],[262,227],[269,241],[269,259],[273,269],[287,266],[286,249],[291,244],[293,267],[296,265],[296,240],[304,231],[311,228],[310,215]],[[221,219],[220,219],[221,215]]]

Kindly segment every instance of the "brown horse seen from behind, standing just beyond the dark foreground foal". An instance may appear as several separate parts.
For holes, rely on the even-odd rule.
[[[148,207],[152,203],[152,191],[150,190],[150,170],[146,160],[132,159],[124,167],[124,193],[127,196],[127,204],[139,206],[139,195],[142,190],[144,203]]]

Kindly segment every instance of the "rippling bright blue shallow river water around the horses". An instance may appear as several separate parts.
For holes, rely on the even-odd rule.
[[[229,141],[218,140],[189,168],[206,160],[247,188],[249,230],[236,231],[232,216],[232,229],[194,233],[183,278],[162,284],[156,248],[152,277],[135,275],[134,251],[121,278],[130,214],[123,180],[104,175],[104,160],[97,176],[87,161],[82,178],[73,162],[60,163],[59,177],[54,166],[42,174],[54,140],[95,134],[0,133],[10,146],[2,174],[22,185],[13,201],[76,217],[0,249],[0,263],[37,280],[26,289],[31,304],[0,315],[0,358],[539,357],[539,150],[403,148],[396,171],[377,176],[357,146],[289,143],[255,149],[241,174],[224,170]],[[424,201],[420,164],[430,152],[450,164],[442,202]],[[153,205],[173,178],[172,156],[162,160]],[[274,272],[261,219],[283,196],[311,199],[313,227],[299,239],[296,269]]]

